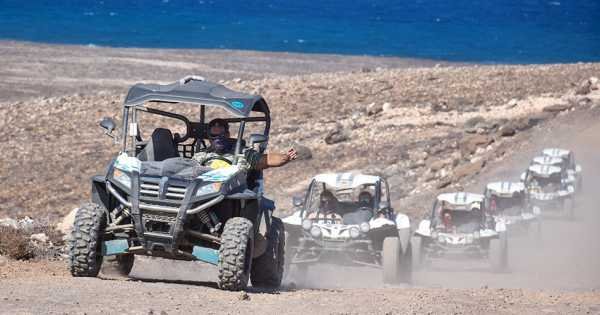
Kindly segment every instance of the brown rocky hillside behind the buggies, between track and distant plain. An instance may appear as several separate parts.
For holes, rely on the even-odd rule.
[[[385,175],[395,206],[453,189],[493,163],[511,141],[567,110],[600,105],[600,64],[469,66],[231,80],[271,105],[271,150],[302,159],[269,170],[279,208],[325,171]],[[89,178],[118,149],[97,122],[119,117],[124,95],[94,92],[0,105],[0,217],[58,218],[88,198]]]

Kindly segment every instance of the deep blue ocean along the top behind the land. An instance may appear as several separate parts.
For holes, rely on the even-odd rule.
[[[0,0],[0,39],[483,63],[600,61],[600,0]]]

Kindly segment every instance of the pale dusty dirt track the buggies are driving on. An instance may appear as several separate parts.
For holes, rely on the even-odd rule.
[[[576,150],[584,168],[587,189],[578,204],[577,219],[545,220],[541,245],[511,238],[511,270],[507,273],[489,273],[485,263],[452,263],[417,272],[411,287],[384,287],[377,270],[323,266],[309,275],[309,288],[296,288],[288,282],[280,292],[252,288],[246,297],[218,290],[214,273],[206,266],[144,259],[133,275],[150,279],[146,281],[75,279],[64,272],[9,276],[0,280],[0,313],[598,313],[597,115],[574,113],[557,119],[547,129],[535,132],[519,153],[481,175],[480,182],[516,176],[532,152],[547,145]],[[478,184],[473,183],[472,188],[480,189]],[[188,282],[177,281],[181,279]],[[293,274],[290,281],[294,281]]]

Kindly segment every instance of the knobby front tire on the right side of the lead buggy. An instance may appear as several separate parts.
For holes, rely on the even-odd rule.
[[[228,291],[246,289],[252,267],[254,229],[246,218],[235,217],[225,223],[219,248],[219,288]]]

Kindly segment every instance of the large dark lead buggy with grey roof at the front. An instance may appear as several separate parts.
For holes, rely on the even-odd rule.
[[[225,167],[216,169],[191,159],[206,150],[208,109],[228,113],[226,121],[239,125],[230,139],[233,163],[224,160]],[[142,116],[176,121],[182,134],[153,123],[150,138],[142,139]],[[246,138],[248,125],[262,133]],[[245,150],[262,153],[267,146],[270,114],[262,97],[195,76],[168,85],[136,84],[125,99],[121,135],[112,134],[110,118],[101,126],[121,151],[104,175],[93,177],[92,201],[77,212],[69,253],[73,276],[97,276],[103,257],[114,255],[128,274],[134,255],[148,255],[216,265],[224,290],[242,290],[249,279],[254,286],[280,285],[283,223],[263,196],[262,172],[243,167]]]

